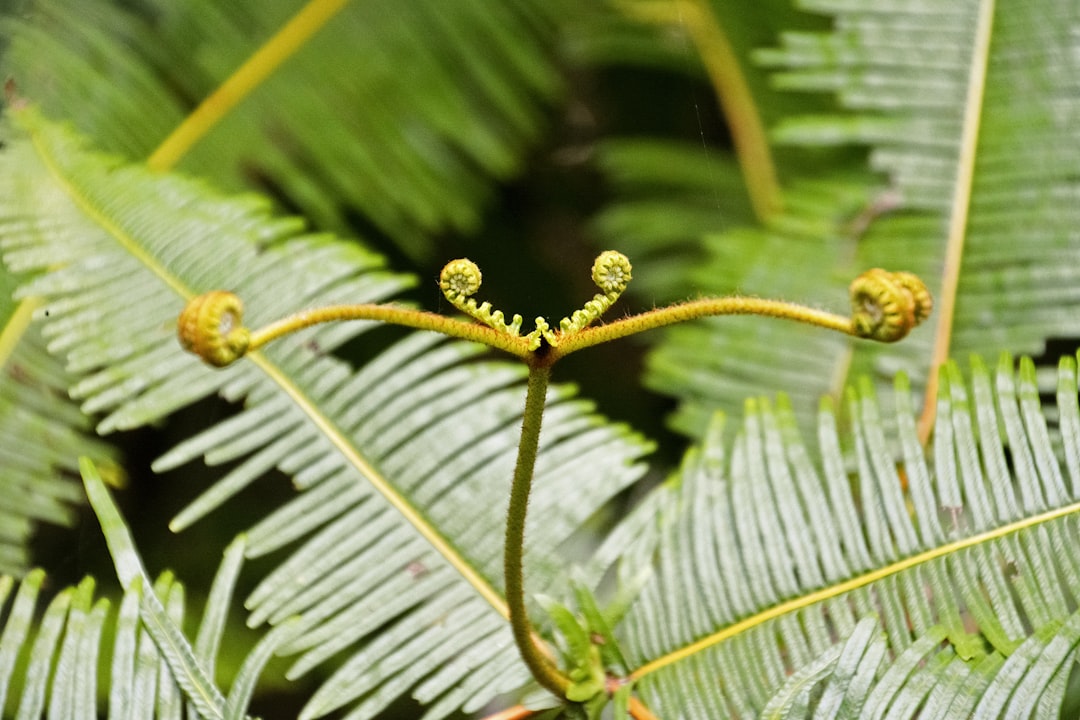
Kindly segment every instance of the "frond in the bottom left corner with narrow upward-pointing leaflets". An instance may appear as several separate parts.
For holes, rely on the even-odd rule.
[[[188,717],[246,717],[252,678],[282,637],[270,634],[256,646],[226,699],[214,682],[214,663],[243,539],[225,552],[192,647],[180,630],[187,613],[184,586],[170,572],[151,585],[97,468],[84,461],[81,470],[116,558],[123,599],[117,607],[106,598],[95,601],[95,583],[87,578],[60,590],[39,612],[43,571],[27,574],[14,595],[12,579],[0,578],[0,611],[6,604],[0,612],[0,711],[6,702],[18,714],[11,717],[97,718],[100,692],[108,698],[109,718],[180,718],[185,706],[194,714]]]

